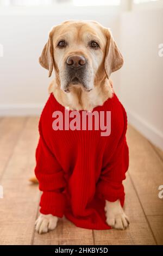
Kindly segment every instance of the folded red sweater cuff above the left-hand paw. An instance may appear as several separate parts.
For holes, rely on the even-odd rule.
[[[40,212],[41,214],[52,214],[54,216],[62,218],[65,210],[65,194],[44,191],[40,199]]]

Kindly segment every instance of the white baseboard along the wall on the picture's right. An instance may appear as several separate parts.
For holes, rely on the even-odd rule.
[[[137,131],[140,131],[149,141],[156,147],[163,150],[163,133],[155,129],[152,125],[148,124],[139,115],[127,111],[128,123],[133,125]]]

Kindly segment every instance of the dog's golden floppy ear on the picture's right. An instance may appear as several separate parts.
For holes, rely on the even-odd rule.
[[[110,74],[121,68],[123,65],[123,56],[117,47],[109,29],[106,30],[106,52],[105,52],[105,72],[107,78]]]

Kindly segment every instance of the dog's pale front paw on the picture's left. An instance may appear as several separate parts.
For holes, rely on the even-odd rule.
[[[49,230],[55,229],[57,226],[58,217],[51,214],[40,214],[35,222],[35,230],[39,233],[47,233]]]

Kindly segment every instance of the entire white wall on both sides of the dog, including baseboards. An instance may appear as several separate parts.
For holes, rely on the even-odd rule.
[[[124,56],[114,89],[137,130],[163,149],[163,9],[120,14],[118,7],[0,9],[0,115],[39,114],[48,97],[48,71],[38,62],[48,31],[67,19],[110,27]],[[23,11],[22,11],[23,10]]]

